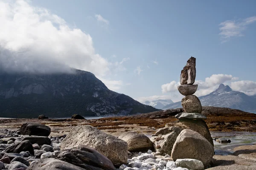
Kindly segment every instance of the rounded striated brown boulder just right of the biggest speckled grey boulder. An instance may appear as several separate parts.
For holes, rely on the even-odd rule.
[[[145,151],[154,148],[151,140],[141,133],[125,132],[119,136],[119,139],[122,139],[125,142],[127,142],[128,151],[130,152]]]

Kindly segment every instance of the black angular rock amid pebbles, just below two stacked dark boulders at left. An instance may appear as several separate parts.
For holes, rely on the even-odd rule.
[[[34,148],[29,140],[22,141],[18,144],[13,144],[6,148],[6,153],[20,153],[22,151],[29,151],[34,155]]]

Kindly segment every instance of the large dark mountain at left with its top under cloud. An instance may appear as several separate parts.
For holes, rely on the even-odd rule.
[[[0,117],[128,115],[158,111],[109,90],[94,74],[0,73]]]

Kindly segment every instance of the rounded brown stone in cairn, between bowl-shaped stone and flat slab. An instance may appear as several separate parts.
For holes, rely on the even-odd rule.
[[[200,100],[195,95],[185,96],[181,100],[181,105],[186,113],[201,113],[202,105]]]

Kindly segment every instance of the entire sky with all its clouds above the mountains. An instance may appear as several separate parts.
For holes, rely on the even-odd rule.
[[[139,102],[177,102],[193,56],[195,95],[221,83],[256,95],[255,8],[255,0],[0,0],[0,68],[77,68]]]

